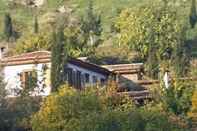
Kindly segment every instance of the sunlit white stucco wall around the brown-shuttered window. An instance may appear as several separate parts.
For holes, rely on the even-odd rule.
[[[7,84],[6,89],[8,90],[9,96],[15,96],[16,93],[14,92],[15,89],[21,89],[21,82],[19,74],[28,71],[28,70],[35,70],[37,71],[37,78],[38,81],[43,80],[43,67],[44,64],[26,64],[26,65],[15,65],[15,66],[5,66],[3,68],[4,73],[4,80]],[[48,69],[50,69],[51,64],[46,63]],[[50,86],[46,86],[42,92],[40,92],[41,84],[38,82],[38,88],[33,93],[33,95],[49,95],[51,88]],[[38,93],[39,92],[39,93]]]

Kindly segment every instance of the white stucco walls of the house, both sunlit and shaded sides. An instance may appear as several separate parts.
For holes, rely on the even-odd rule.
[[[48,72],[47,75],[50,76],[49,72],[51,69],[51,63],[45,63],[45,64],[47,64],[47,67],[49,70],[49,71],[47,71]],[[6,89],[9,92],[9,96],[16,96],[17,94],[15,93],[14,90],[22,89],[19,74],[24,71],[30,71],[30,70],[37,71],[38,81],[42,81],[43,80],[43,72],[42,72],[43,65],[44,64],[26,64],[26,65],[5,66],[3,69],[3,73],[4,73],[4,80],[7,84]],[[72,68],[75,71],[80,71],[82,74],[88,73],[89,78],[90,78],[89,84],[91,84],[91,85],[95,84],[93,82],[93,76],[97,77],[98,82],[100,82],[101,79],[107,79],[107,76],[105,76],[105,75],[102,75],[100,73],[96,73],[94,71],[91,71],[91,70],[88,70],[85,68],[81,68],[81,67],[73,65],[73,64],[68,64],[68,67]],[[48,78],[46,81],[50,81],[50,78]],[[50,83],[50,82],[48,82],[48,83]],[[35,92],[32,95],[47,96],[50,94],[50,92],[51,92],[51,85],[50,84],[46,84],[47,86],[43,89],[42,92],[40,92],[40,89],[42,89],[42,84],[39,84],[39,82],[37,84],[39,85],[39,87],[35,89]]]

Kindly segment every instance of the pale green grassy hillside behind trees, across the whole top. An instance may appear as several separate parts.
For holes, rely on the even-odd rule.
[[[35,0],[41,2],[38,7],[35,7],[32,6],[31,3],[24,4],[25,1],[27,2],[34,0],[0,0],[0,42],[4,41],[3,24],[4,15],[6,12],[11,14],[14,29],[19,33],[19,36],[22,37],[24,34],[28,34],[33,31],[32,28],[34,25],[35,15],[38,16],[40,28],[44,28],[45,24],[43,24],[42,21],[45,20],[46,17],[54,17],[55,14],[53,13],[60,9],[60,7],[70,9],[72,17],[77,17],[80,19],[86,13],[86,9],[89,4],[89,0]],[[190,10],[190,1],[176,1],[182,3],[182,6],[179,5],[180,7],[178,10],[180,10],[181,17],[183,17],[182,19],[187,20]],[[102,36],[104,39],[107,40],[111,36],[110,30],[112,23],[122,9],[137,7],[138,5],[143,5],[150,2],[154,2],[154,0],[94,0],[94,11],[95,13],[101,15],[101,23],[103,28]],[[184,10],[184,12],[181,10]],[[43,32],[48,32],[48,30],[45,31],[44,29]],[[189,40],[193,39],[197,36],[196,28],[193,31],[189,31],[187,34]],[[196,48],[193,48],[192,52],[196,54]]]

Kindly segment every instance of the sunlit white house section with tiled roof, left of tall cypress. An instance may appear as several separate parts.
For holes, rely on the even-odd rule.
[[[25,53],[18,56],[6,57],[0,61],[3,66],[4,80],[7,84],[6,89],[10,96],[17,95],[18,91],[25,88],[27,80],[33,77],[37,80],[36,93],[40,95],[48,95],[50,93],[49,74],[51,63],[49,52]],[[41,89],[41,85],[44,84],[45,88]]]

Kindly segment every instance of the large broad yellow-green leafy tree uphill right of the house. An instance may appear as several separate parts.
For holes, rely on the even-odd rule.
[[[184,22],[179,20],[172,6],[161,2],[123,10],[115,26],[119,30],[119,43],[139,52],[149,71],[174,66],[174,50],[185,42]]]

